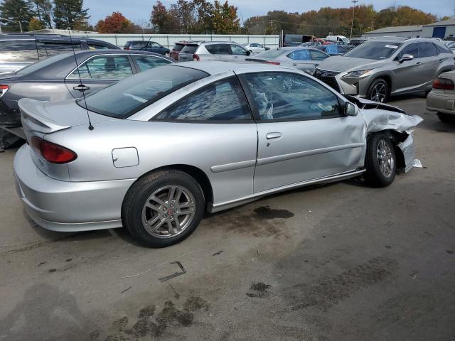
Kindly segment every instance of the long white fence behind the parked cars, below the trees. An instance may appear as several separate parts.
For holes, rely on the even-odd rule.
[[[208,41],[235,41],[239,44],[259,43],[269,48],[279,45],[279,35],[219,35],[219,34],[102,34],[92,33],[75,35],[85,38],[94,38],[107,41],[108,43],[123,47],[128,40],[151,40],[156,41],[166,48],[172,48],[176,41],[180,40],[208,40]]]

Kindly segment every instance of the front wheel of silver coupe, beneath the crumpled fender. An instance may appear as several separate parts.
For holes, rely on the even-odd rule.
[[[386,187],[395,179],[397,158],[392,141],[385,134],[374,134],[368,139],[365,166],[365,178],[373,187]]]

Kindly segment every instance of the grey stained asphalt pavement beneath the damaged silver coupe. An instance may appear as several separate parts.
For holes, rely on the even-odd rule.
[[[207,215],[166,249],[36,227],[1,153],[0,340],[454,340],[455,124],[391,104],[424,118],[423,168]]]

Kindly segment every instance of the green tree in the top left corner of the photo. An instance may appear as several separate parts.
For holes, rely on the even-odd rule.
[[[4,0],[0,4],[0,17],[11,21],[1,21],[2,29],[8,32],[20,32],[21,22],[22,30],[28,31],[28,23],[35,16],[33,4],[25,0]]]

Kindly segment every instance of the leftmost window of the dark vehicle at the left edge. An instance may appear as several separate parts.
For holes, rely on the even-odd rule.
[[[36,62],[37,60],[35,40],[0,40],[0,61]]]

